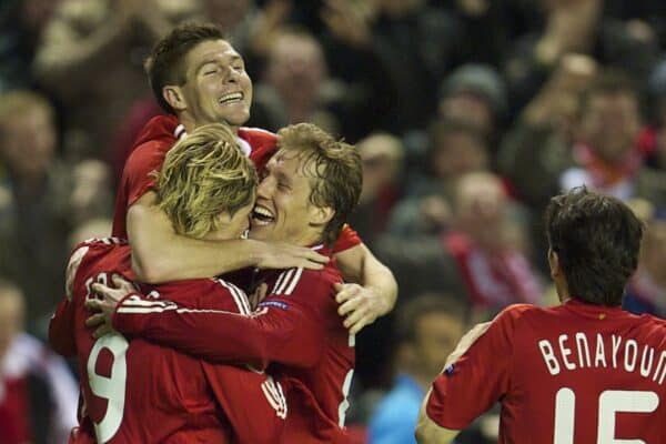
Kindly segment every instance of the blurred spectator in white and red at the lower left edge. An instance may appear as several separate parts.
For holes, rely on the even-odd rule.
[[[0,437],[4,444],[67,442],[77,383],[67,363],[24,333],[21,290],[0,278]]]

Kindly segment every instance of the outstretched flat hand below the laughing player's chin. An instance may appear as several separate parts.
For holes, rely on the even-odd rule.
[[[329,262],[312,249],[294,246],[286,243],[262,243],[256,266],[260,269],[296,269],[321,270]]]

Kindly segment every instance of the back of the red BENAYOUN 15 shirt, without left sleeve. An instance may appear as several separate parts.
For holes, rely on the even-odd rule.
[[[501,442],[666,442],[664,321],[578,301],[509,317]]]

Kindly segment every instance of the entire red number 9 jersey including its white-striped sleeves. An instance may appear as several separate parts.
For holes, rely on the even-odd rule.
[[[56,351],[79,360],[83,404],[71,442],[273,443],[286,416],[282,386],[263,373],[213,365],[141,339],[92,337],[84,307],[94,282],[112,273],[132,279],[130,249],[111,238],[79,244],[68,268],[68,293],[49,326]],[[148,302],[179,301],[188,310],[250,312],[244,293],[223,280],[147,286]],[[253,418],[261,414],[256,426]]]

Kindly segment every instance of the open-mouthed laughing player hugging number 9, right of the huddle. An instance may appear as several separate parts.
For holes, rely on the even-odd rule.
[[[252,212],[250,236],[309,246],[331,256],[331,246],[359,202],[361,158],[310,123],[280,130],[278,152],[269,161]],[[186,139],[185,139],[186,140]],[[125,290],[94,290],[105,301],[105,322],[132,336],[173,346],[215,362],[253,362],[287,376],[285,435],[275,442],[349,442],[344,430],[354,373],[354,335],[337,315],[335,292],[342,275],[331,258],[323,270],[252,273],[269,295],[250,316],[220,310],[133,310],[150,301],[124,297]],[[115,307],[115,303],[120,304]],[[163,302],[164,303],[164,302]],[[172,310],[173,309],[173,310]],[[220,341],[221,337],[226,340]],[[256,420],[261,422],[263,420]]]

